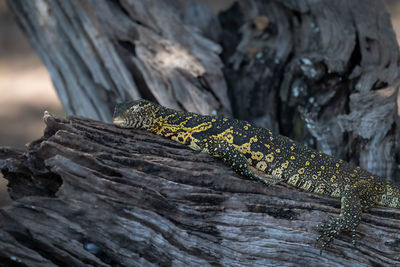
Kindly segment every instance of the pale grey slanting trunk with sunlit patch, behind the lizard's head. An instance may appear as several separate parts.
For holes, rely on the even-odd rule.
[[[230,113],[221,47],[182,22],[175,1],[8,1],[49,69],[68,114],[111,121],[147,98]]]

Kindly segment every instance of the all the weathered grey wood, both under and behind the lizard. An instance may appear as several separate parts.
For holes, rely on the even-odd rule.
[[[147,98],[231,115],[396,180],[399,52],[380,1],[240,1],[218,16],[173,0],[8,1],[70,115],[109,122]],[[365,214],[358,244],[319,256],[339,202],[243,180],[140,131],[46,116],[26,153],[3,149],[17,201],[0,262],[20,265],[399,264],[400,213]],[[5,160],[7,159],[7,160]]]

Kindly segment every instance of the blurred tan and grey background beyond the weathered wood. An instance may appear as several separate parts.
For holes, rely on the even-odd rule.
[[[234,1],[203,2],[218,12]],[[400,0],[384,2],[399,41]],[[0,146],[23,148],[41,137],[45,110],[65,116],[46,68],[18,27],[5,0],[0,0]],[[6,185],[7,180],[0,174],[0,207],[11,203]]]

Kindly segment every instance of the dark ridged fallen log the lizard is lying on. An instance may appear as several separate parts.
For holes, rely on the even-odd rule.
[[[365,213],[320,256],[316,225],[339,200],[267,188],[139,130],[46,113],[26,152],[0,150],[15,202],[0,210],[10,266],[400,264],[400,210]]]

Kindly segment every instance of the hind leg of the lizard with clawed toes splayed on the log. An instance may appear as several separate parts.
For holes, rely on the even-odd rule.
[[[359,191],[356,189],[356,186],[346,185],[341,197],[339,217],[330,218],[328,222],[318,226],[322,234],[318,237],[317,242],[319,240],[324,241],[321,247],[321,253],[342,231],[349,231],[352,233],[352,242],[355,245],[356,228],[361,221],[362,213],[360,197],[358,196]]]

